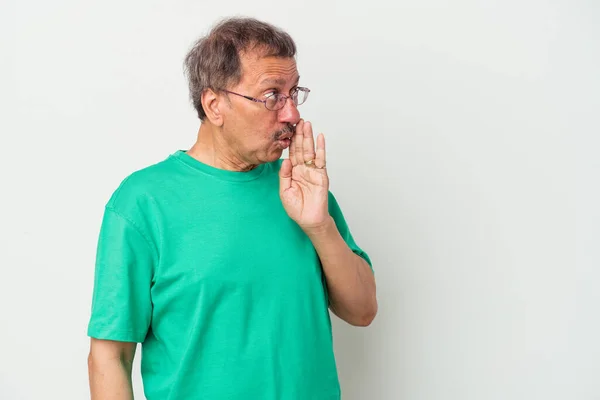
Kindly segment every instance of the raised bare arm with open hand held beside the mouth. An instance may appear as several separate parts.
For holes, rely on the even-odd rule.
[[[369,264],[348,247],[329,213],[325,136],[317,137],[315,150],[312,126],[300,120],[289,154],[279,171],[283,207],[321,259],[331,310],[351,325],[367,326],[377,314],[375,277]]]

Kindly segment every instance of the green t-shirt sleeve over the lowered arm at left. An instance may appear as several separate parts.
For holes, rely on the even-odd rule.
[[[96,252],[88,336],[144,341],[152,316],[154,265],[148,238],[130,219],[107,206]]]

